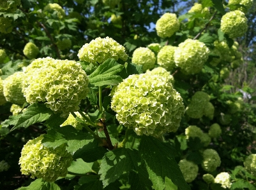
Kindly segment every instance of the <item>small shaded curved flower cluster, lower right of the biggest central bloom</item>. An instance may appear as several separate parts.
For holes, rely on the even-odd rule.
[[[199,138],[200,142],[204,145],[204,147],[207,147],[211,142],[211,138],[209,137],[209,135],[207,133],[202,132],[202,130],[195,125],[188,126],[185,130],[185,134],[186,139],[188,140]]]

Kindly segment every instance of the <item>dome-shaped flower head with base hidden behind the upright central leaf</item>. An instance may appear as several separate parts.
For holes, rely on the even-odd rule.
[[[97,37],[89,44],[84,44],[77,54],[81,61],[86,61],[93,64],[102,64],[108,58],[126,61],[128,55],[125,53],[125,48],[117,43],[111,37]]]

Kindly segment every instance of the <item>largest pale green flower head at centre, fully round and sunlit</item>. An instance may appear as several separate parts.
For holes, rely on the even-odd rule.
[[[184,105],[172,84],[158,75],[133,74],[114,92],[111,108],[119,123],[133,128],[137,135],[161,137],[176,132]]]

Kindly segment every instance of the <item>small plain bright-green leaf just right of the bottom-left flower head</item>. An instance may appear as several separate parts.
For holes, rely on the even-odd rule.
[[[68,167],[68,172],[86,174],[88,172],[92,172],[92,166],[93,163],[86,163],[79,158],[76,161],[72,161],[71,165]]]

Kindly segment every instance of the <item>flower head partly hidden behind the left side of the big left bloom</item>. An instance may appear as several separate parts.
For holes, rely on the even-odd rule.
[[[13,104],[24,104],[26,98],[22,93],[24,72],[15,72],[3,80],[4,97]]]

